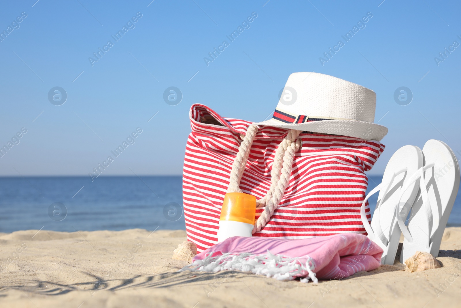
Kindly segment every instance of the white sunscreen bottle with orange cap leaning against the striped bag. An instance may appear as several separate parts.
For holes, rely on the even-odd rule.
[[[219,218],[218,242],[232,236],[251,237],[256,197],[248,193],[226,193]]]

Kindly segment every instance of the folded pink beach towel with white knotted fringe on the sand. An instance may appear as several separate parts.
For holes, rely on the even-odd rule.
[[[381,264],[383,249],[361,234],[286,240],[234,236],[197,254],[183,270],[253,272],[278,280],[341,279]]]

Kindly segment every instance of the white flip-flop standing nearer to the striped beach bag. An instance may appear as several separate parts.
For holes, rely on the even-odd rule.
[[[423,165],[423,154],[417,146],[405,145],[398,149],[384,170],[383,181],[367,194],[361,206],[361,218],[368,237],[383,248],[381,264],[394,264],[401,231],[397,223],[397,209],[407,210],[414,203],[419,185],[408,183],[413,175]],[[407,187],[402,191],[402,187]],[[379,191],[378,203],[373,213],[371,224],[365,213],[368,198]],[[404,200],[405,202],[402,202]],[[399,202],[407,206],[399,207]]]

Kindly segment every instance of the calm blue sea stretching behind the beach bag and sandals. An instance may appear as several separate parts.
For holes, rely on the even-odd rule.
[[[380,182],[369,176],[368,190]],[[461,226],[460,194],[449,226]],[[181,176],[2,177],[0,232],[185,229],[182,199]]]

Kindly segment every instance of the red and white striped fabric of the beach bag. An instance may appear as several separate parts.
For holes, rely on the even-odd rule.
[[[221,206],[249,121],[222,118],[205,105],[190,109],[192,133],[183,169],[183,205],[189,241],[199,252],[217,242]],[[244,193],[264,197],[274,153],[287,130],[262,127],[240,182]],[[384,145],[374,140],[303,132],[290,182],[271,220],[253,236],[300,239],[338,233],[366,234],[360,217],[367,176]],[[256,219],[262,208],[256,209]],[[366,205],[367,218],[371,215]]]

